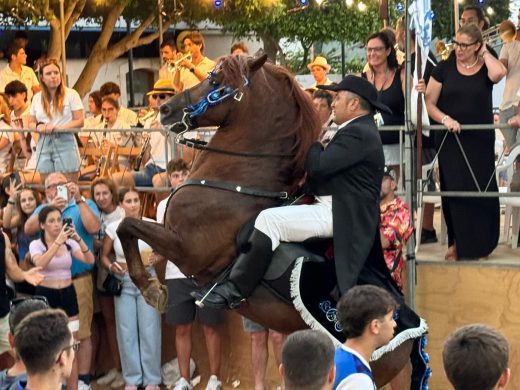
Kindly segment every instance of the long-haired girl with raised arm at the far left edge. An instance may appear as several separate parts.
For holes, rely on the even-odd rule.
[[[21,188],[22,184],[10,179],[9,200],[4,207],[3,228],[4,230],[15,230],[15,249],[20,267],[28,269],[26,255],[29,253],[29,244],[40,237],[40,233],[33,235],[25,234],[23,226],[32,215],[33,211],[41,203],[38,192],[31,188]],[[17,295],[33,295],[34,286],[22,282],[16,284]]]

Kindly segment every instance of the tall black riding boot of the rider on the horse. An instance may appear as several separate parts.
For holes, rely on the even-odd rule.
[[[191,295],[209,307],[233,309],[240,305],[260,283],[273,257],[271,239],[260,230],[253,230],[249,244],[249,250],[241,253],[233,264],[228,280],[206,297],[208,289]]]

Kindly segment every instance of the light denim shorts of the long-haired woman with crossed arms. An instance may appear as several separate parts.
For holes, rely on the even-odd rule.
[[[79,150],[74,134],[41,135],[36,146],[36,170],[42,173],[79,171]]]

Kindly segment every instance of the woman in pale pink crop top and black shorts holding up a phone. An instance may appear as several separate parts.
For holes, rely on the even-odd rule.
[[[81,262],[94,264],[94,255],[76,232],[72,220],[63,223],[62,213],[57,207],[44,207],[38,220],[41,238],[31,242],[29,252],[33,264],[42,267],[45,278],[35,293],[46,297],[52,308],[63,309],[69,317],[71,331],[76,334],[79,330],[79,307],[72,284],[72,256]],[[77,359],[74,359],[73,373],[69,381],[76,383]]]

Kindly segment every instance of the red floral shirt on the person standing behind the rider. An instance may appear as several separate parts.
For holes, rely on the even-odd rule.
[[[386,265],[399,288],[403,289],[403,248],[413,233],[410,211],[406,202],[397,197],[391,202],[380,204],[379,211],[381,234],[390,241],[390,246],[383,250]]]

